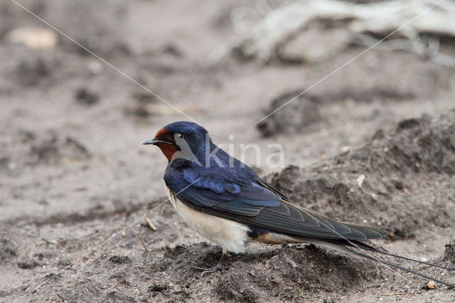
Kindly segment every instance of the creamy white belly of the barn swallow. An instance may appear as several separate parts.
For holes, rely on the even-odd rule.
[[[220,245],[223,252],[245,252],[245,242],[248,240],[247,225],[195,211],[174,197],[167,186],[166,191],[173,208],[189,227]]]

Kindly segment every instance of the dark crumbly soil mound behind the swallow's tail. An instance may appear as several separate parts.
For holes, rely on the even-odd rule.
[[[455,111],[407,119],[365,147],[311,169],[269,176],[301,206],[338,220],[378,225],[392,238],[454,225]]]

